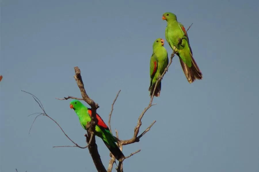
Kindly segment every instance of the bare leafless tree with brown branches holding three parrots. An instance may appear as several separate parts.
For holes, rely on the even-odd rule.
[[[189,26],[189,28],[186,30],[186,32],[190,29],[191,26]],[[186,34],[186,32],[184,33],[184,35]],[[183,38],[179,38],[179,42],[178,44],[180,44],[182,42],[182,39]],[[140,138],[142,136],[144,136],[144,134],[146,134],[146,132],[148,132],[150,130],[150,128],[155,124],[156,120],[154,120],[150,126],[148,126],[148,128],[146,128],[146,130],[144,130],[141,134],[139,134],[139,130],[140,130],[140,126],[142,124],[141,120],[142,120],[142,117],[144,116],[144,114],[146,113],[146,111],[153,105],[155,104],[152,104],[153,102],[153,98],[154,98],[154,93],[155,93],[155,89],[157,87],[157,84],[158,82],[160,82],[162,79],[163,79],[163,76],[165,75],[165,73],[167,72],[169,66],[171,65],[172,63],[172,59],[176,53],[176,47],[174,48],[173,50],[173,53],[171,54],[171,57],[170,57],[170,61],[167,65],[167,67],[165,68],[164,72],[162,73],[161,76],[159,76],[159,79],[157,80],[156,84],[155,84],[155,88],[154,88],[154,91],[151,95],[151,99],[150,99],[150,102],[148,104],[147,107],[144,108],[143,112],[140,114],[139,118],[138,118],[138,122],[137,122],[137,125],[136,127],[134,128],[134,133],[133,133],[133,137],[128,139],[128,140],[120,140],[117,144],[119,146],[119,148],[122,150],[122,146],[123,145],[127,145],[127,144],[132,144],[132,143],[135,143],[135,142],[139,142],[140,141]],[[62,127],[58,124],[58,122],[56,122],[56,120],[54,120],[53,118],[51,118],[49,115],[46,114],[45,110],[44,110],[44,107],[41,103],[41,101],[35,97],[35,95],[31,94],[31,93],[28,93],[26,91],[26,93],[28,94],[31,94],[33,96],[33,98],[35,99],[35,101],[38,103],[38,105],[40,106],[41,110],[43,112],[41,113],[34,113],[34,114],[38,114],[33,123],[35,122],[36,118],[40,115],[44,115],[44,116],[47,116],[48,118],[50,118],[52,121],[54,121],[58,126],[59,128],[62,130],[62,132],[65,134],[65,136],[74,144],[73,146],[53,146],[53,147],[79,147],[79,148],[88,148],[89,150],[89,153],[93,159],[93,162],[94,162],[94,165],[97,169],[98,172],[111,172],[112,169],[113,169],[113,164],[115,163],[115,157],[110,154],[111,156],[111,159],[109,161],[109,164],[108,164],[108,169],[106,170],[103,163],[102,163],[102,160],[100,158],[100,155],[98,153],[98,149],[97,149],[97,145],[96,145],[96,142],[95,142],[95,135],[94,135],[94,131],[95,131],[95,126],[97,124],[97,118],[96,118],[96,110],[98,109],[99,105],[98,103],[94,102],[93,99],[91,99],[86,91],[85,91],[85,87],[84,87],[84,84],[83,84],[83,80],[82,80],[82,77],[81,77],[81,71],[78,67],[74,67],[75,69],[75,75],[74,75],[74,78],[75,78],[75,81],[77,83],[77,86],[79,87],[80,89],[80,92],[81,92],[81,96],[82,98],[77,98],[77,97],[72,97],[72,96],[68,96],[68,97],[64,97],[63,99],[59,99],[59,100],[67,100],[67,99],[77,99],[77,100],[84,100],[88,105],[91,106],[91,109],[92,109],[92,117],[91,117],[91,122],[89,122],[86,126],[87,128],[87,133],[85,134],[85,137],[86,137],[86,142],[87,142],[87,145],[86,146],[79,146],[76,142],[74,142],[73,140],[71,140],[71,138],[68,137],[68,135],[64,132],[64,130],[62,129]],[[22,90],[23,91],[23,90]],[[117,93],[113,103],[112,103],[112,107],[111,107],[111,112],[109,114],[109,120],[108,120],[108,126],[109,126],[109,129],[110,131],[112,132],[111,130],[111,115],[112,115],[112,112],[113,112],[113,106],[114,106],[114,103],[115,101],[117,100],[117,97],[119,96],[119,93],[120,93],[121,90],[119,90],[119,92]],[[32,114],[31,114],[32,115]],[[32,124],[33,125],[33,124]],[[31,130],[31,128],[30,128]],[[117,138],[119,138],[119,135],[118,135],[118,131],[116,130],[116,136]],[[136,152],[134,153],[131,153],[130,155],[126,156],[124,159],[122,159],[121,161],[119,161],[119,164],[118,164],[118,167],[117,167],[117,172],[122,172],[123,171],[123,161],[129,157],[131,157],[132,155],[136,154],[140,152],[140,149],[137,150]]]

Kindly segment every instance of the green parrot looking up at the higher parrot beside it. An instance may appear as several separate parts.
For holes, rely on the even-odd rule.
[[[162,38],[156,39],[153,44],[153,54],[150,59],[150,87],[148,89],[150,96],[153,94],[157,79],[159,79],[159,76],[162,75],[168,65],[167,51],[163,45],[164,40]],[[160,91],[161,81],[157,84],[154,96],[159,97]]]

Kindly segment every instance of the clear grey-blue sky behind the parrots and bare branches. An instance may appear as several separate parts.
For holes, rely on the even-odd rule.
[[[155,39],[165,39],[162,14],[177,15],[188,31],[203,80],[189,84],[177,56],[162,80],[161,96],[142,119],[157,120],[124,161],[124,171],[259,171],[259,1],[1,0],[1,172],[96,171],[87,149],[73,145],[41,112],[84,146],[85,130],[70,100],[80,97],[74,66],[113,132],[129,139],[150,97],[149,62]],[[165,42],[171,54],[172,49]],[[109,150],[96,138],[105,167]]]

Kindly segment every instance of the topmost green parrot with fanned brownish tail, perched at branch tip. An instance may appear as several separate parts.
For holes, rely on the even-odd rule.
[[[182,70],[188,82],[192,83],[195,79],[202,79],[202,73],[193,58],[193,52],[184,26],[177,21],[176,15],[170,12],[164,13],[162,19],[167,21],[165,38],[173,50],[179,40],[183,38],[176,47],[176,54],[180,59]]]

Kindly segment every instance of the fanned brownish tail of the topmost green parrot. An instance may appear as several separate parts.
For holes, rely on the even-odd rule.
[[[191,54],[191,53],[190,53]],[[180,54],[177,54],[180,59],[180,63],[182,66],[182,70],[188,80],[189,83],[193,83],[196,79],[202,79],[202,73],[196,64],[192,54],[191,54],[191,60],[192,60],[192,66],[189,68],[187,64],[182,60],[180,57]]]

